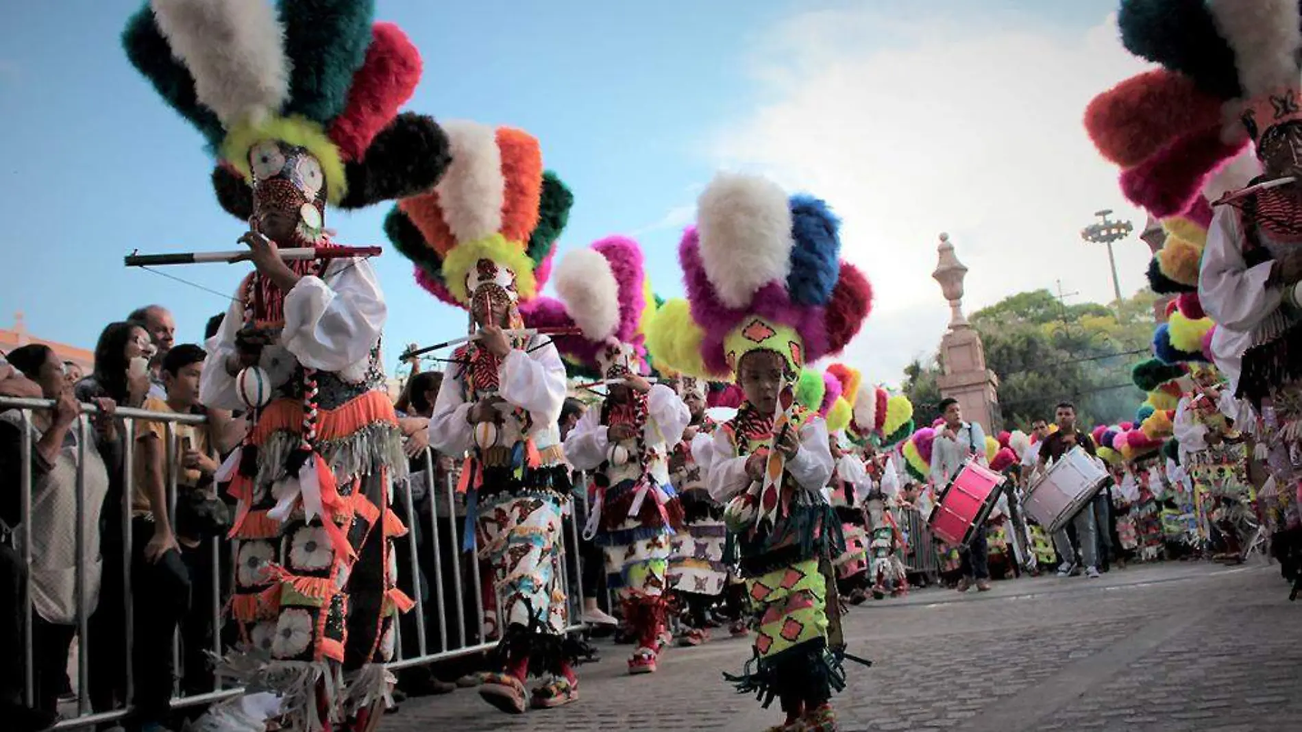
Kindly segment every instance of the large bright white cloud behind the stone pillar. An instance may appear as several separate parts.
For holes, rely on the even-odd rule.
[[[1144,68],[1121,47],[1115,20],[1075,31],[999,20],[974,29],[871,9],[790,18],[755,61],[766,100],[713,143],[721,164],[815,193],[844,218],[844,257],[878,296],[846,358],[871,380],[901,380],[939,343],[940,232],[970,267],[970,313],[1056,280],[1107,302],[1107,253],[1079,231],[1098,208],[1143,229],[1081,122],[1094,95]],[[1122,292],[1144,284],[1147,259],[1138,237],[1117,245]]]

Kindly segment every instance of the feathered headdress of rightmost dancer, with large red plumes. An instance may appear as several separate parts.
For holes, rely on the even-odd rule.
[[[1122,43],[1163,68],[1095,98],[1086,128],[1130,201],[1189,212],[1249,141],[1260,154],[1273,129],[1302,121],[1298,20],[1295,0],[1122,0]],[[1211,211],[1193,218],[1206,229]]]

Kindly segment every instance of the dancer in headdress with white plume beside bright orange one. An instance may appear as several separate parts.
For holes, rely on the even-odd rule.
[[[453,162],[436,189],[406,198],[385,229],[415,263],[417,281],[469,310],[471,340],[444,373],[430,445],[467,455],[457,487],[467,496],[466,544],[492,568],[482,591],[504,628],[479,694],[510,712],[578,698],[561,581],[569,469],[560,445],[565,366],[548,336],[525,332],[521,306],[542,287],[540,263],[572,197],[543,172],[538,141],[512,128],[447,128]],[[471,541],[473,537],[473,541]],[[543,677],[530,694],[530,673]]]

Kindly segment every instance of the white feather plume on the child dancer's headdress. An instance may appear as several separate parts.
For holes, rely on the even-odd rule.
[[[728,307],[746,307],[755,292],[790,272],[792,208],[777,184],[719,173],[697,202],[700,263]]]

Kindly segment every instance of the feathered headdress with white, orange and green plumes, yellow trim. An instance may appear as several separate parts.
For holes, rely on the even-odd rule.
[[[547,281],[574,197],[543,171],[529,133],[470,121],[445,129],[448,172],[434,190],[400,201],[385,233],[444,302],[469,309],[480,288],[527,302]]]

